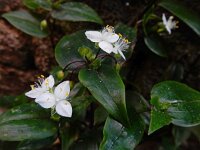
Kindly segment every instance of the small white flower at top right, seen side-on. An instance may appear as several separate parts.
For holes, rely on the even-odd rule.
[[[166,28],[166,30],[168,31],[169,34],[171,34],[171,30],[177,28],[177,21],[172,21],[173,20],[173,16],[170,16],[169,19],[166,19],[165,14],[162,14],[162,20],[163,20],[163,24]]]

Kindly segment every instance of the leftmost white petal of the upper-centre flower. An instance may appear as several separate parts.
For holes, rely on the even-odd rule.
[[[101,42],[102,41],[102,34],[99,31],[86,31],[85,35],[92,42]]]

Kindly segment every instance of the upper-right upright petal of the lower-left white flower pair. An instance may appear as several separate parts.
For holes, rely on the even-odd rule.
[[[70,92],[69,81],[64,81],[60,83],[54,90],[54,94],[58,99],[66,99]]]

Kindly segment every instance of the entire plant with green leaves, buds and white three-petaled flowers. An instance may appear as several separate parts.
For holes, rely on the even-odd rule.
[[[51,36],[52,20],[103,24],[84,3],[51,0],[23,0],[23,3],[31,13],[18,10],[3,17],[31,36]],[[172,16],[167,19],[164,13],[157,16],[154,13],[157,7],[177,16],[198,35],[200,19],[190,11],[186,14],[183,5],[171,0],[148,7],[142,16],[145,44],[155,54],[166,57],[158,41],[160,36],[173,34],[178,22]],[[42,16],[46,17],[35,17],[37,9],[42,9]],[[152,20],[157,24],[148,26]],[[17,149],[41,149],[58,141],[63,150],[131,150],[144,135],[166,125],[199,125],[200,92],[183,83],[163,81],[154,85],[150,101],[126,90],[121,72],[126,61],[134,56],[137,26],[107,25],[102,30],[86,29],[60,39],[55,47],[60,68],[48,77],[40,75],[38,82],[31,85],[31,90],[25,93],[31,102],[24,95],[10,97],[19,102],[0,115],[0,140],[18,141]],[[130,95],[135,97],[130,99]],[[138,109],[141,105],[142,111]],[[175,128],[173,133],[179,133],[179,129]]]

